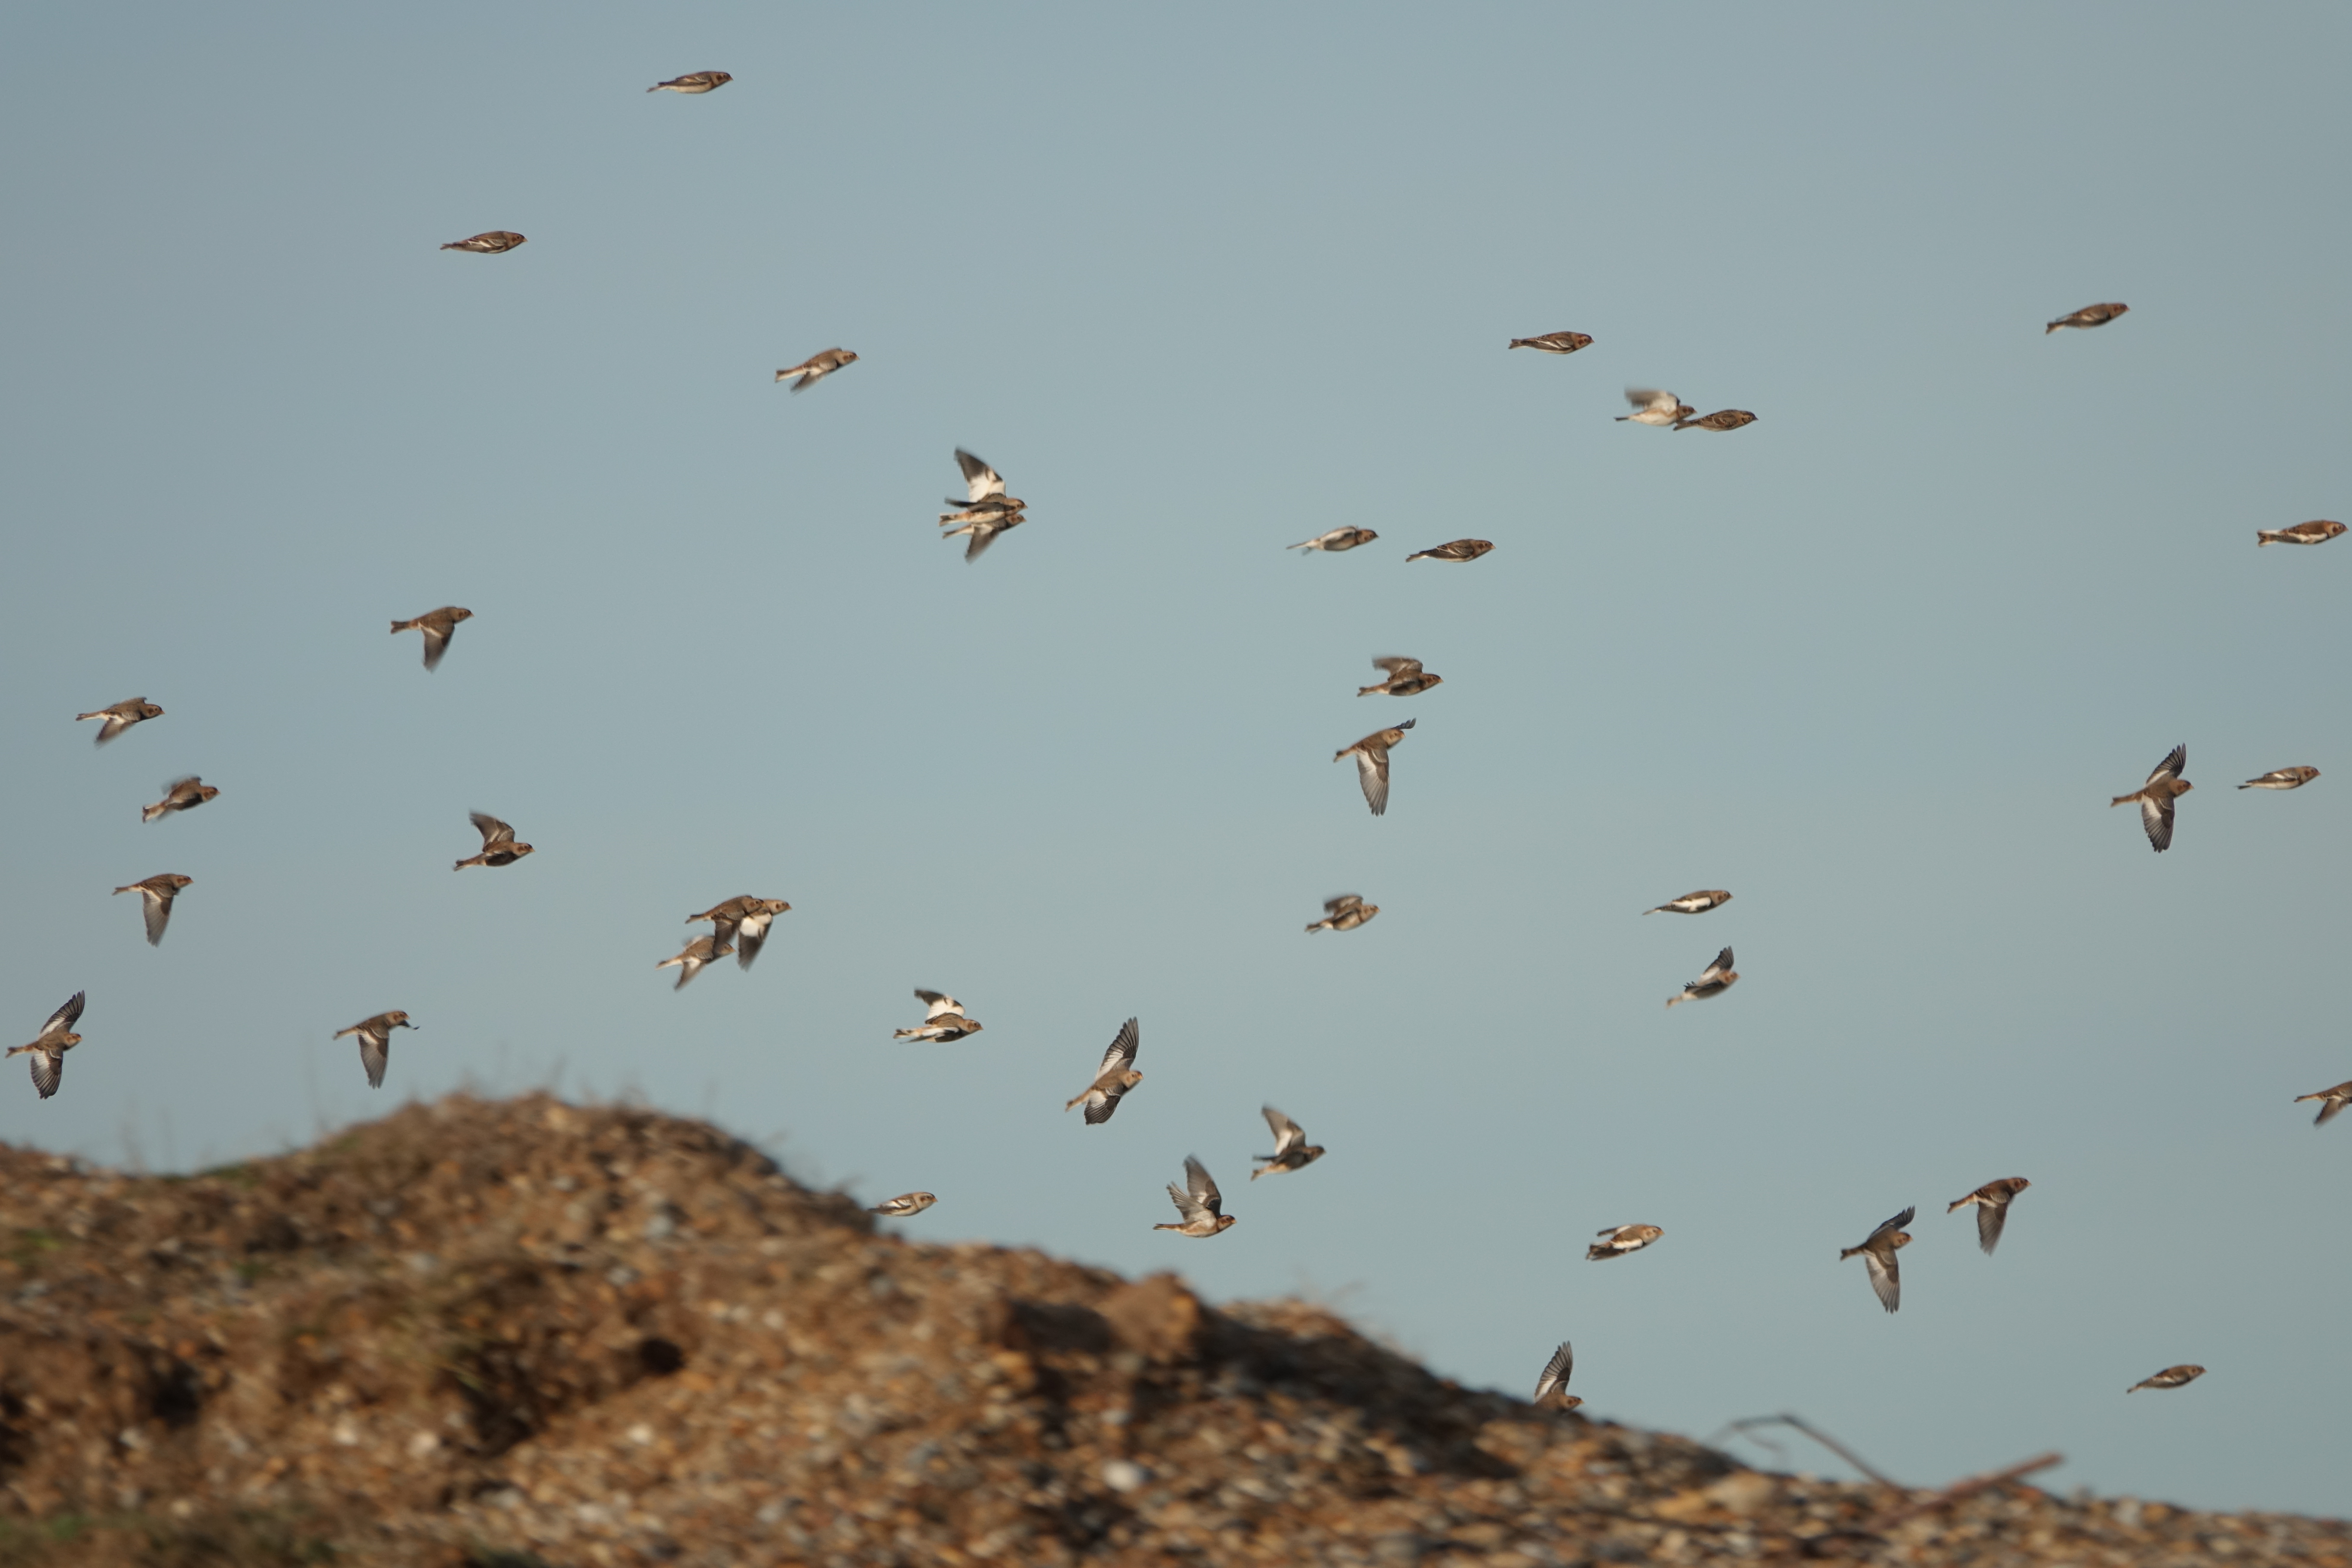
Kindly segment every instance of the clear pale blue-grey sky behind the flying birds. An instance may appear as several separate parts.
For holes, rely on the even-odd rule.
[[[89,1013],[0,1135],[191,1166],[560,1072],[938,1192],[908,1237],[1310,1291],[1468,1382],[1573,1338],[1611,1418],[2340,1512],[2352,1121],[2291,1100],[2352,1077],[2352,543],[2253,529],[2352,505],[2347,40],[14,9],[0,997],[9,1044]],[[435,249],[485,228],[529,244]],[[1503,350],[1555,329],[1595,346]],[[1611,423],[1628,383],[1762,421]],[[957,444],[1030,501],[976,567]],[[449,602],[426,675],[383,628]],[[1374,654],[1446,684],[1357,701]],[[132,693],[167,717],[94,752]],[[1374,820],[1329,757],[1406,715]],[[2157,858],[2105,802],[2176,741]],[[2326,778],[2230,788],[2286,764]],[[468,809],[539,853],[452,877]],[[108,889],[165,870],[148,950]],[[1738,898],[1635,917],[1696,886]],[[1303,936],[1343,889],[1381,919]],[[760,969],[673,994],[743,891],[795,905]],[[891,1046],[915,985],[985,1034]],[[369,1093],[327,1037],[390,1006]],[[1251,1187],[1261,1100],[1329,1159]],[[1188,1152],[1214,1244],[1150,1232]],[[1987,1260],[1943,1204],[1997,1175]],[[1889,1319],[1837,1248],[1903,1204]]]

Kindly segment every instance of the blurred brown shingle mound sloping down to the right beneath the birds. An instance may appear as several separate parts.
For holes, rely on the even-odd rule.
[[[0,1563],[2352,1568],[2345,1523],[1748,1472],[1296,1302],[875,1237],[642,1110],[0,1178]]]

